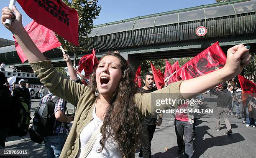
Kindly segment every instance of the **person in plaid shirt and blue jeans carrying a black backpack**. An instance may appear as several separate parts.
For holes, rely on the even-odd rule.
[[[41,99],[40,105],[42,103],[48,102],[49,100],[54,100],[54,98],[56,97],[57,97],[56,95],[49,93]],[[54,123],[55,127],[52,133],[50,133],[47,136],[44,136],[44,145],[46,147],[48,158],[54,158],[54,157],[59,158],[61,154],[61,150],[67,139],[67,132],[69,132],[67,123],[72,122],[74,119],[74,117],[72,116],[65,115],[65,112],[66,112],[65,107],[67,103],[65,100],[59,98],[54,103],[55,103],[54,116],[56,118]]]

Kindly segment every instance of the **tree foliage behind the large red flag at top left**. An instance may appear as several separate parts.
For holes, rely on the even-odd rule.
[[[63,2],[70,8],[77,10],[79,46],[67,42],[59,35],[57,35],[57,38],[65,50],[72,52],[88,51],[87,35],[91,33],[93,20],[97,19],[101,10],[101,7],[97,5],[98,0],[63,0]]]

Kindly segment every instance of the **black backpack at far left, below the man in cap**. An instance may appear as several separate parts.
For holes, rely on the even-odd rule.
[[[12,96],[11,115],[9,135],[27,135],[31,117],[28,103],[23,98]]]

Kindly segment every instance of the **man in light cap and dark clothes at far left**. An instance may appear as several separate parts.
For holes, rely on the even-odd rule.
[[[13,96],[22,98],[27,104],[30,105],[30,93],[28,88],[26,88],[26,83],[28,80],[19,80],[19,86],[13,90]]]

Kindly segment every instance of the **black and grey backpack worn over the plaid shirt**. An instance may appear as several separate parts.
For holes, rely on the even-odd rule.
[[[52,96],[53,94],[50,98]],[[53,100],[49,99],[47,102],[41,103],[36,109],[32,128],[38,136],[45,137],[52,134],[54,129],[59,125],[59,121],[55,125],[56,118],[54,115],[55,103],[58,99],[59,97],[54,97]],[[64,106],[66,106],[66,103],[65,101]]]

